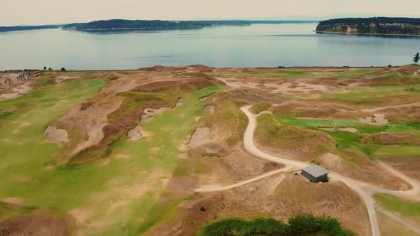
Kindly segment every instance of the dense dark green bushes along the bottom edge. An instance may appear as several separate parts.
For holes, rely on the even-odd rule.
[[[207,235],[353,235],[343,230],[334,218],[315,217],[313,214],[298,214],[288,224],[272,218],[228,218],[202,225],[199,236]]]

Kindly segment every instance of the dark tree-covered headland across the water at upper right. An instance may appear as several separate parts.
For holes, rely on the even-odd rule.
[[[335,18],[321,21],[317,33],[420,36],[420,18]]]

